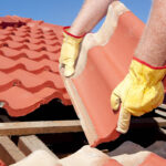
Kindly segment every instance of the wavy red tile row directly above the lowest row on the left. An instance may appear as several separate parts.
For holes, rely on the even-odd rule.
[[[18,86],[24,87],[30,92],[38,92],[43,87],[52,87],[59,90],[62,93],[65,92],[60,75],[55,73],[51,73],[49,71],[43,71],[39,74],[33,74],[24,70],[15,70],[9,73],[7,76],[9,76],[10,80],[13,80],[13,84],[15,83]],[[3,86],[6,86],[6,84]]]

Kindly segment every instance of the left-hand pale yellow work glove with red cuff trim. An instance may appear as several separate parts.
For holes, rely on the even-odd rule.
[[[60,66],[64,65],[64,76],[71,76],[74,73],[74,65],[80,51],[80,43],[83,37],[75,37],[68,32],[70,27],[63,29],[63,43],[60,55]]]

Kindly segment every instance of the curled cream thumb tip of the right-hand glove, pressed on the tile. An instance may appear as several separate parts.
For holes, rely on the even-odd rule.
[[[112,95],[111,95],[111,107],[114,111],[118,111],[121,104],[121,98],[120,96],[115,93],[115,91],[113,91]]]

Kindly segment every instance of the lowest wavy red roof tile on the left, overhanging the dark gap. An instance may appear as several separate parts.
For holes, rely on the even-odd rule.
[[[0,101],[3,102],[3,108],[8,111],[10,116],[15,117],[29,114],[53,98],[60,98],[64,104],[70,103],[66,95],[52,87],[43,87],[39,92],[31,93],[19,86],[11,86],[0,93]]]

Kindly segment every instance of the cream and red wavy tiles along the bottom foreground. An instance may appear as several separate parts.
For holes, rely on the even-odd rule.
[[[110,157],[96,148],[83,146],[74,154],[56,159],[45,151],[35,151],[22,160],[11,166],[164,166],[166,159],[151,152],[138,152],[135,154],[122,154]]]

